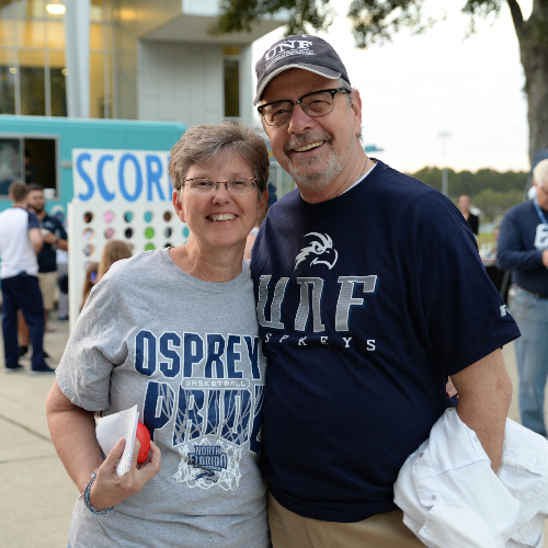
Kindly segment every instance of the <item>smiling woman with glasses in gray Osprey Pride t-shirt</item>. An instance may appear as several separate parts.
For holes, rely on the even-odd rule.
[[[244,127],[201,125],[173,147],[169,170],[189,242],[112,266],[91,292],[48,397],[68,473],[80,492],[92,480],[76,503],[69,546],[266,548],[258,467],[264,357],[242,260],[266,206],[266,147]],[[103,459],[93,414],[134,404],[151,453],[136,465],[136,442],[118,479],[124,441]]]

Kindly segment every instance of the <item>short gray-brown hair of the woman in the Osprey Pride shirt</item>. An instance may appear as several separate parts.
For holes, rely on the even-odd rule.
[[[253,129],[233,122],[201,124],[185,132],[171,149],[168,172],[173,189],[182,189],[192,165],[210,165],[226,152],[236,153],[249,164],[258,180],[259,194],[262,194],[269,184],[269,149]]]

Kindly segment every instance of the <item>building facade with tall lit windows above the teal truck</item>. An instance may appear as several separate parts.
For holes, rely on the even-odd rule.
[[[283,19],[215,36],[218,4],[0,0],[0,114],[251,123],[251,43]]]

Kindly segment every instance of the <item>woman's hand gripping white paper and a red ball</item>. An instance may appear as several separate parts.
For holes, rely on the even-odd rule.
[[[116,476],[116,465],[124,453],[125,445],[126,441],[121,437],[99,468],[98,477],[93,486],[91,486],[90,504],[98,510],[114,506],[124,499],[137,493],[149,479],[160,471],[162,456],[158,445],[153,442],[150,442],[151,455],[149,454],[142,465],[137,464],[140,443],[136,438],[129,471],[118,478]]]

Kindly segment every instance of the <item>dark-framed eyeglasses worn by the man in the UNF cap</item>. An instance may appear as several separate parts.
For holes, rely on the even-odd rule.
[[[284,126],[292,119],[293,107],[300,104],[302,110],[313,117],[326,116],[334,109],[334,96],[336,93],[349,93],[344,88],[332,90],[312,91],[302,95],[298,101],[274,101],[258,106],[259,114],[269,126]]]

